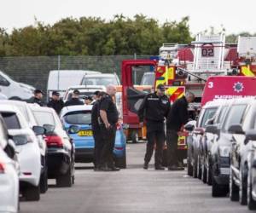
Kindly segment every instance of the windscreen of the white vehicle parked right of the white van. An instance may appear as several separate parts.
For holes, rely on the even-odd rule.
[[[113,84],[113,85],[119,85],[117,79],[113,76],[113,77],[101,77],[99,75],[99,77],[95,77],[95,78],[89,78],[89,77],[85,77],[83,79],[82,85],[86,85],[86,86],[108,86],[109,84]]]

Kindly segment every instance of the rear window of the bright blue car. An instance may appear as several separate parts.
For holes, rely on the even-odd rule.
[[[69,112],[64,116],[67,124],[91,124],[90,111]]]

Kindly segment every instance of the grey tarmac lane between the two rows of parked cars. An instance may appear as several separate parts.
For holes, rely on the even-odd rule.
[[[229,198],[212,199],[211,188],[185,171],[143,170],[145,144],[128,145],[128,169],[94,172],[79,164],[72,188],[53,181],[39,202],[21,202],[21,213],[250,212]]]

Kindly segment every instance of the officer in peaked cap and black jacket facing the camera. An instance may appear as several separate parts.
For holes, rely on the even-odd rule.
[[[165,95],[165,86],[159,84],[157,91],[145,96],[142,105],[139,107],[138,116],[140,122],[145,119],[147,125],[147,151],[144,158],[145,170],[148,170],[148,163],[154,151],[154,142],[156,150],[154,153],[154,169],[165,170],[161,165],[163,145],[166,139],[165,118],[170,110],[170,101]]]

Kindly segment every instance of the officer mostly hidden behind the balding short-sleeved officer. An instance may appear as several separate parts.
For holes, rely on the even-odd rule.
[[[100,101],[102,99],[102,93],[98,92],[95,95],[95,102],[91,109],[91,129],[93,132],[93,138],[95,141],[95,169],[100,170],[101,157],[102,157],[102,134],[100,124],[98,122],[100,112]]]

